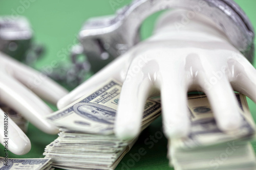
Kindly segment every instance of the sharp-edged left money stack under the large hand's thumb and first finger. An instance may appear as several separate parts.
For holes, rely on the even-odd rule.
[[[114,120],[121,84],[110,80],[89,95],[47,117],[60,127],[59,137],[45,149],[45,158],[64,169],[114,169],[136,138],[118,139]],[[141,130],[160,114],[160,103],[147,100]]]

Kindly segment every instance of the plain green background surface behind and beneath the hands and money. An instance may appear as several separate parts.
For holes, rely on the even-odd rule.
[[[0,0],[0,15],[16,16],[19,14],[29,19],[34,30],[34,40],[44,44],[47,50],[44,57],[36,63],[36,68],[40,69],[49,65],[53,60],[60,60],[58,54],[65,54],[66,60],[70,60],[69,49],[77,43],[76,35],[88,18],[114,14],[116,9],[130,2],[124,0]],[[236,2],[244,9],[255,27],[256,1],[236,0]],[[159,13],[154,14],[144,21],[141,28],[142,39],[151,35],[154,21],[158,16]],[[255,61],[253,65],[256,67]],[[248,103],[255,120],[256,105],[251,100],[248,100]],[[56,110],[55,106],[50,106]],[[145,143],[147,138],[160,134],[160,128],[161,117],[142,133],[133,149],[126,154],[116,169],[122,169],[124,164],[129,169],[172,169],[168,167],[166,158],[167,140],[165,137],[159,140],[148,139],[147,141],[151,143]],[[10,158],[43,158],[45,146],[57,138],[57,135],[45,134],[31,124],[29,124],[27,135],[32,143],[31,151],[23,156],[9,153]],[[133,164],[131,155],[138,153],[140,148],[144,148],[146,154]],[[256,143],[253,143],[253,148],[256,151]],[[0,156],[3,156],[2,152],[1,146]]]

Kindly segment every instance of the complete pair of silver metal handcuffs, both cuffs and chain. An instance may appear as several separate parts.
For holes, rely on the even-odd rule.
[[[200,6],[201,5],[201,6]],[[74,88],[82,83],[91,69],[97,72],[106,64],[140,42],[139,28],[151,14],[171,8],[184,8],[210,17],[223,30],[234,47],[251,63],[254,57],[254,31],[244,11],[232,0],[135,0],[117,10],[114,16],[96,17],[86,21],[79,32],[80,43],[71,49],[72,64],[48,75]],[[31,65],[42,53],[42,47],[31,43],[32,30],[24,17],[0,19],[0,51]],[[32,44],[32,45],[31,45]],[[34,47],[33,47],[34,46]],[[32,49],[32,51],[29,49]],[[28,53],[28,51],[30,53]],[[27,54],[27,55],[25,55]],[[86,56],[82,62],[78,56]],[[63,74],[63,69],[65,69]],[[72,71],[73,70],[73,71]],[[74,72],[75,74],[69,74]],[[75,86],[74,86],[75,85]]]

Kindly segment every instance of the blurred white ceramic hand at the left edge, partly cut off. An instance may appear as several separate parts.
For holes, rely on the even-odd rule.
[[[52,112],[51,108],[38,96],[56,104],[67,93],[67,90],[46,76],[0,53],[0,101],[22,114],[41,131],[49,134],[58,132],[45,119]],[[26,154],[31,148],[30,140],[10,117],[8,120],[9,150],[17,155]],[[0,121],[0,143],[5,145],[4,112],[1,109]]]

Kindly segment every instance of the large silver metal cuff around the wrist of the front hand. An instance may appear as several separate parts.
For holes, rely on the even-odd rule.
[[[200,4],[203,6],[201,7]],[[244,11],[232,0],[135,0],[119,9],[114,16],[91,18],[79,32],[80,44],[73,48],[84,54],[94,72],[129,50],[139,39],[139,28],[151,14],[171,8],[184,8],[211,18],[229,41],[250,62],[254,57],[254,31]]]

